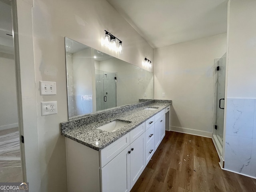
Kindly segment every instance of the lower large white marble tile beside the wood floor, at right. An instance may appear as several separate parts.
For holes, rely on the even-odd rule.
[[[225,169],[251,174],[252,139],[226,136]]]

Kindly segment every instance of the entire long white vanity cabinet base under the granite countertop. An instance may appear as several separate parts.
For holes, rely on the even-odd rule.
[[[165,109],[100,151],[66,138],[69,192],[129,192],[165,135]]]

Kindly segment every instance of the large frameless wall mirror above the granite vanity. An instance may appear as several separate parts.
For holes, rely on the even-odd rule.
[[[68,119],[154,99],[154,74],[65,38]]]

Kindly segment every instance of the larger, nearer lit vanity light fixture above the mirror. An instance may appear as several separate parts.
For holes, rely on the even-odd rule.
[[[118,43],[119,41],[119,43]],[[110,32],[105,30],[105,34],[102,38],[102,45],[110,48],[110,50],[114,50],[117,53],[123,53],[123,44],[122,41],[112,35]]]

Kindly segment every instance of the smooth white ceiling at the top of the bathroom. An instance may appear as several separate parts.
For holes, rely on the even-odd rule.
[[[152,46],[160,48],[227,30],[228,0],[107,0]]]

